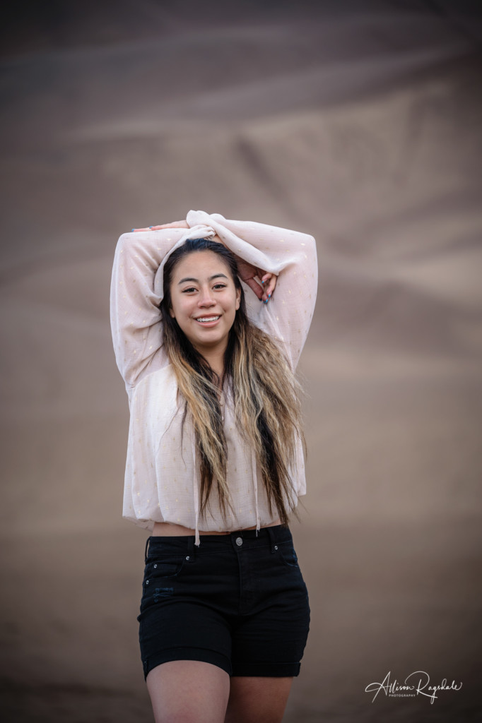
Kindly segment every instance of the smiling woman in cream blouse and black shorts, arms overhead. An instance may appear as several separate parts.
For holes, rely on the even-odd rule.
[[[132,231],[111,325],[131,415],[123,516],[151,531],[138,620],[156,723],[279,723],[310,621],[288,521],[316,244],[203,211]]]

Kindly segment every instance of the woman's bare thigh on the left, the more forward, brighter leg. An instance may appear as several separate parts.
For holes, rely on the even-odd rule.
[[[224,723],[229,675],[200,660],[172,660],[146,679],[156,723]]]

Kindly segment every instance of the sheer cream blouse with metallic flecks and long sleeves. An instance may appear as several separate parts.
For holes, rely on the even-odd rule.
[[[165,228],[122,234],[117,243],[111,282],[111,328],[117,366],[130,405],[130,427],[122,516],[152,530],[154,522],[172,522],[199,530],[232,531],[276,521],[254,450],[238,432],[229,391],[221,395],[227,440],[227,480],[233,513],[223,519],[216,490],[210,510],[200,517],[200,474],[190,416],[182,429],[182,404],[177,382],[163,348],[159,304],[163,297],[166,258],[186,239],[218,234],[245,261],[278,275],[276,288],[264,304],[242,282],[250,320],[280,340],[292,368],[297,366],[308,335],[316,301],[318,265],[313,236],[266,226],[229,221],[219,213],[191,210],[190,228]],[[292,499],[305,495],[301,441],[289,470]]]

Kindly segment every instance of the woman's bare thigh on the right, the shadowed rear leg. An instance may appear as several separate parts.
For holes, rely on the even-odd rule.
[[[225,723],[281,723],[292,677],[232,677]]]

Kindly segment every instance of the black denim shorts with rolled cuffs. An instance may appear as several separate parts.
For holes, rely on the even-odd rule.
[[[200,660],[229,675],[300,673],[308,590],[282,525],[226,535],[149,537],[139,641],[144,677],[170,660]]]

